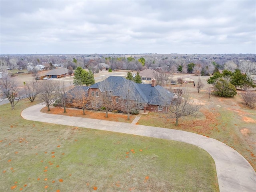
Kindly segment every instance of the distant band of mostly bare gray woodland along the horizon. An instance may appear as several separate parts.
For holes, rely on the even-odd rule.
[[[28,63],[33,66],[44,64],[51,69],[54,64],[63,67],[77,67],[91,70],[92,73],[102,70],[98,64],[106,63],[110,69],[144,70],[161,69],[170,73],[194,73],[208,76],[216,70],[240,69],[247,75],[256,74],[256,56],[253,54],[226,55],[182,55],[182,54],[133,54],[133,55],[3,55],[0,68],[25,69]]]

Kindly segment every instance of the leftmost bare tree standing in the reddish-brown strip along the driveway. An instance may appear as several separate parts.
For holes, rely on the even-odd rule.
[[[54,81],[43,81],[40,83],[40,100],[42,104],[47,106],[50,111],[50,104],[52,104],[57,98],[56,83]]]

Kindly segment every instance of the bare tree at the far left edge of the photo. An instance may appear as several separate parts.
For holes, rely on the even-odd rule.
[[[8,99],[12,110],[15,105],[24,98],[21,88],[18,86],[16,79],[10,76],[8,73],[3,73],[0,78],[0,99]]]

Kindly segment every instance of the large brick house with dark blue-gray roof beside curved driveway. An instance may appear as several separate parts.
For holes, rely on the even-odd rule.
[[[130,87],[128,87],[128,85]],[[137,84],[131,80],[127,80],[120,76],[110,76],[102,82],[93,84],[90,87],[82,87],[86,90],[86,96],[90,98],[88,102],[88,109],[97,109],[102,107],[101,102],[104,98],[105,91],[110,94],[110,101],[113,104],[113,110],[122,110],[122,105],[128,99],[127,91],[131,90],[132,94],[129,99],[134,101],[137,109],[149,110],[149,111],[167,111],[170,106],[174,94],[169,92],[162,86],[156,86],[156,80],[152,79],[152,84]],[[72,92],[76,92],[78,86],[68,91],[67,95],[74,96]],[[125,103],[125,107],[126,103]]]

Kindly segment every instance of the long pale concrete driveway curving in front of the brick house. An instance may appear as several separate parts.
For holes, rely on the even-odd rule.
[[[40,112],[40,109],[43,107],[42,104],[37,104],[26,108],[22,111],[21,116],[32,121],[92,128],[193,144],[206,150],[214,159],[220,192],[256,192],[256,173],[252,166],[236,150],[215,139],[181,130],[46,114]]]

